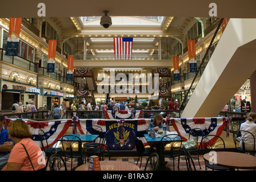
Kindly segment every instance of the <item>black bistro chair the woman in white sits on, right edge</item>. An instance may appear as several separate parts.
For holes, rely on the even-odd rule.
[[[247,152],[255,156],[255,137],[252,133],[245,130],[234,131],[233,140],[237,152]],[[248,143],[250,143],[250,148],[247,146]]]

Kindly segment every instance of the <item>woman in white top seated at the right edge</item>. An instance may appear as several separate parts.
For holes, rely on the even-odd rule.
[[[246,122],[241,124],[240,130],[242,130],[241,131],[242,137],[245,138],[245,150],[253,151],[253,146],[254,146],[253,138],[248,137],[246,132],[244,131],[249,131],[256,138],[256,124],[254,123],[255,121],[256,121],[256,113],[250,112]],[[240,142],[240,147],[242,148],[242,142]]]

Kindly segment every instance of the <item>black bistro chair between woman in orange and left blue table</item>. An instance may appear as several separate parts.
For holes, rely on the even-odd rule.
[[[47,142],[48,137],[47,137],[45,131],[38,130],[38,135],[39,135],[39,139],[40,139],[40,142],[42,145],[42,151],[44,151],[45,155],[47,156],[47,162],[46,162],[46,166],[47,166],[48,162],[49,162],[49,156],[51,154],[59,154],[60,152],[62,152],[62,148],[49,147],[48,142]],[[43,144],[43,141],[45,141],[46,147]]]

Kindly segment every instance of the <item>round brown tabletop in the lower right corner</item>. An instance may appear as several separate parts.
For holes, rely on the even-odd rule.
[[[206,162],[233,169],[255,169],[256,157],[239,152],[209,152],[203,155]]]

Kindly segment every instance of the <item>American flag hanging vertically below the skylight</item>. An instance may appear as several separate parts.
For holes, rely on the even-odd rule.
[[[114,38],[115,59],[131,59],[133,38]]]

